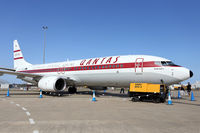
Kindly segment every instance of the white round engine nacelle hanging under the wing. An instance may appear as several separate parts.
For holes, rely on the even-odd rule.
[[[66,88],[66,81],[61,77],[43,77],[38,82],[38,87],[43,90],[63,91]]]

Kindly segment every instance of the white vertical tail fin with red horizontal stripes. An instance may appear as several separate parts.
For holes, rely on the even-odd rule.
[[[31,66],[30,63],[26,62],[24,60],[23,54],[21,52],[21,49],[19,47],[18,41],[14,40],[13,42],[13,48],[14,48],[14,69],[15,70],[25,70],[28,66]]]

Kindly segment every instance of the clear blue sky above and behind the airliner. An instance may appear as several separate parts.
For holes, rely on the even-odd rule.
[[[190,68],[200,80],[199,0],[1,0],[0,66],[13,67],[12,42],[25,59],[42,63],[146,54]],[[3,76],[21,82],[15,76]]]

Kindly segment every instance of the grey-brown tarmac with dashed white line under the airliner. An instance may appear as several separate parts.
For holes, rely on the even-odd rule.
[[[0,90],[0,133],[200,133],[200,92],[195,101],[172,92],[172,105],[132,102],[108,90],[43,95],[39,90]]]

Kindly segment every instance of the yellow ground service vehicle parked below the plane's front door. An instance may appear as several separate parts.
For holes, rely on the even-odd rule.
[[[167,89],[164,84],[131,83],[129,96],[133,101],[165,102]]]

